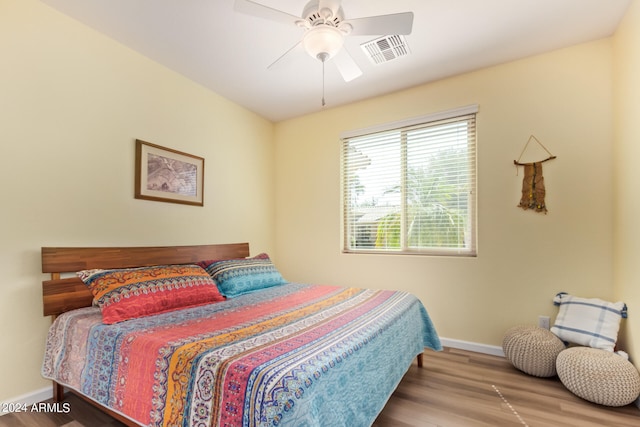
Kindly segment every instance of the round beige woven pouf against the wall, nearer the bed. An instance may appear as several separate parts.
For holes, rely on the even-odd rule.
[[[556,357],[564,343],[551,331],[532,325],[514,326],[502,340],[504,355],[517,369],[536,377],[556,374]]]

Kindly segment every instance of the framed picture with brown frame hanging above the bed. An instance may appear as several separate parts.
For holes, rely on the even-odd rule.
[[[203,206],[204,159],[136,139],[135,198]]]

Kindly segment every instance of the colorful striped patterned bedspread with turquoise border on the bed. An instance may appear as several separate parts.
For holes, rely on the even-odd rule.
[[[287,284],[114,325],[65,313],[42,374],[143,426],[370,426],[425,347],[411,294]]]

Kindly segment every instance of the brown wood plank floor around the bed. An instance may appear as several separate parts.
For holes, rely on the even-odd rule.
[[[67,395],[68,414],[14,413],[0,427],[120,427]],[[389,399],[374,427],[637,427],[640,409],[609,408],[574,396],[557,378],[536,378],[504,358],[446,348],[427,350]]]

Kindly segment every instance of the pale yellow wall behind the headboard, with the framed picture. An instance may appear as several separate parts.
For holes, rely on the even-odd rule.
[[[0,0],[0,401],[48,383],[41,246],[274,249],[273,124],[34,0]],[[136,200],[134,141],[205,158],[204,207]]]

